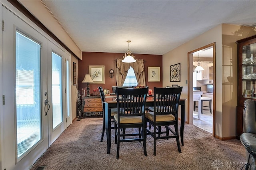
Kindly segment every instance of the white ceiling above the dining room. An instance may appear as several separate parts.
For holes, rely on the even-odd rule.
[[[42,0],[81,51],[163,55],[226,23],[256,26],[255,0]],[[207,45],[207,44],[206,44]]]

